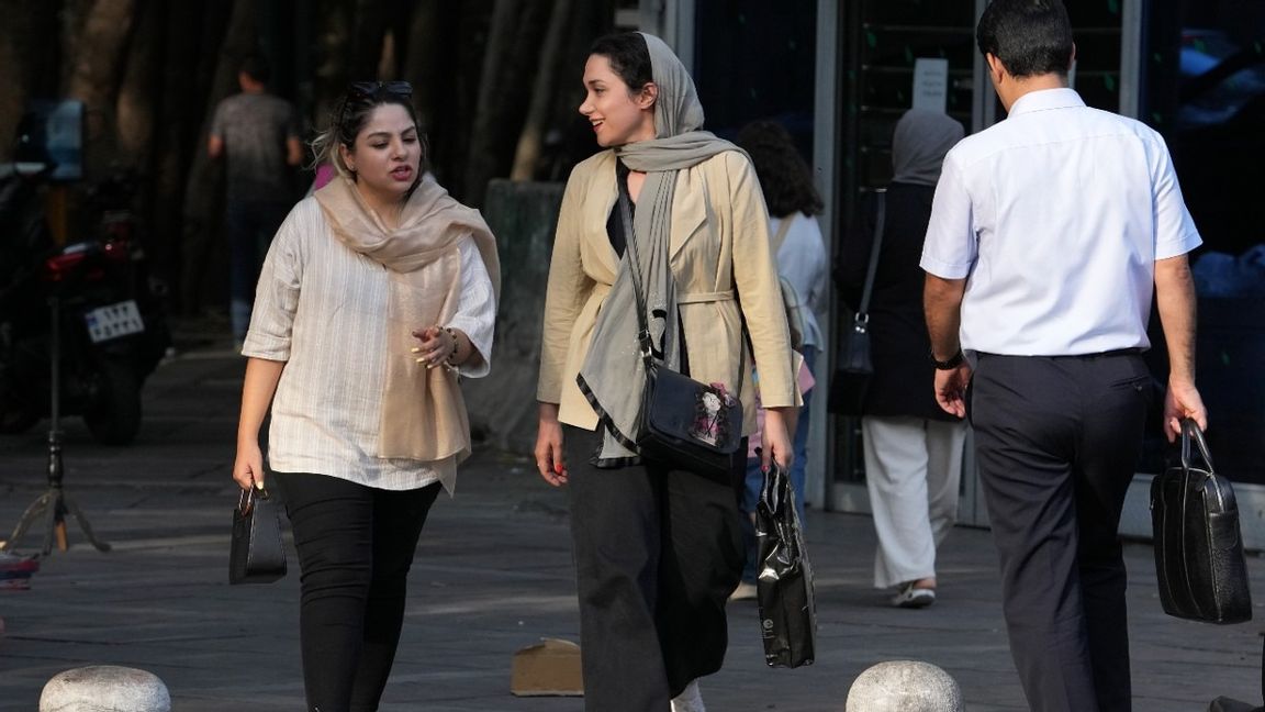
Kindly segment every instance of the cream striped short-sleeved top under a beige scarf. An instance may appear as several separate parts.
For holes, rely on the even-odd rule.
[[[462,329],[483,355],[462,375],[482,376],[491,367],[496,299],[473,238],[462,238],[459,248],[460,296],[445,326]],[[242,348],[244,356],[286,362],[268,429],[273,470],[391,490],[443,481],[453,492],[453,457],[423,462],[377,456],[388,281],[386,267],[334,237],[315,198],[300,201],[281,226],[263,262]]]

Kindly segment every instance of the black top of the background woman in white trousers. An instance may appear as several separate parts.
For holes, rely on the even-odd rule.
[[[913,416],[955,421],[936,404],[931,340],[922,312],[925,272],[918,267],[931,220],[935,188],[893,182],[887,190],[887,224],[869,304],[874,376],[861,407],[864,416]],[[868,199],[858,224],[844,234],[835,283],[854,310],[860,303],[874,243],[877,201]]]

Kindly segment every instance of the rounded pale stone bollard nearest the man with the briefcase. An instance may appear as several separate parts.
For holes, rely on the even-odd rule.
[[[920,660],[879,663],[856,677],[845,712],[964,712],[949,673]]]

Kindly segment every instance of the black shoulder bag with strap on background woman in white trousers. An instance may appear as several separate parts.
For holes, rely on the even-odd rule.
[[[869,300],[874,291],[874,274],[878,271],[878,253],[883,245],[883,229],[887,220],[887,190],[874,191],[878,200],[878,219],[874,223],[874,242],[870,246],[869,267],[865,271],[865,286],[861,289],[861,302],[853,312],[842,305],[844,324],[839,337],[839,356],[835,374],[830,380],[829,409],[840,416],[860,416],[869,390],[870,376],[874,375],[874,361],[870,356]]]

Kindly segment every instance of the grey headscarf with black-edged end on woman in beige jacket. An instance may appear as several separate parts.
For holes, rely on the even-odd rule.
[[[615,148],[615,155],[629,168],[646,174],[638,200],[634,234],[625,236],[629,243],[636,241],[640,265],[631,265],[629,251],[624,251],[615,284],[597,318],[588,356],[576,376],[606,431],[602,448],[595,459],[597,466],[636,461],[634,438],[641,410],[645,364],[638,343],[636,295],[629,270],[638,269],[641,275],[646,322],[658,351],[655,356],[667,367],[679,370],[676,283],[668,262],[677,172],[717,153],[740,151],[732,143],[700,130],[703,108],[689,72],[662,39],[646,33],[641,35],[650,51],[651,79],[659,87],[654,105],[655,137]]]

